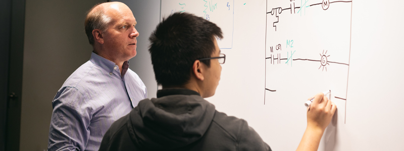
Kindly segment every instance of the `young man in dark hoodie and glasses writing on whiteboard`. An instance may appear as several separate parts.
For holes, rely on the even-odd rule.
[[[175,13],[150,36],[157,98],[139,102],[105,134],[100,150],[271,150],[247,122],[215,110],[221,63],[215,24]],[[336,106],[322,94],[308,109],[308,126],[297,150],[317,150]],[[274,136],[276,137],[276,136]]]

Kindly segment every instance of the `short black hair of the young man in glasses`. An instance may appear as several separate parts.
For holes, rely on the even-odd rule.
[[[216,24],[189,13],[174,13],[151,33],[149,52],[158,84],[181,86],[189,81],[193,62],[211,57],[214,38],[223,38]],[[210,60],[202,60],[210,67]]]

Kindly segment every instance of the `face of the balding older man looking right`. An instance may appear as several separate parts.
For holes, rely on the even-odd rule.
[[[126,61],[136,55],[136,19],[132,11],[123,4],[113,4],[106,15],[112,18],[108,29],[103,33],[104,48],[116,61]]]

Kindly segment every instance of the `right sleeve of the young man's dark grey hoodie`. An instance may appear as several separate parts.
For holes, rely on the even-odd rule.
[[[237,150],[269,150],[271,147],[262,140],[260,135],[248,126],[247,122],[243,120],[238,136],[238,149]]]

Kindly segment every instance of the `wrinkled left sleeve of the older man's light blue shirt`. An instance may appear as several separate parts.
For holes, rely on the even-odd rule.
[[[52,101],[48,151],[84,150],[89,139],[90,111],[84,96],[73,87],[63,87]]]

